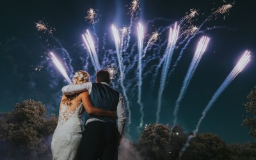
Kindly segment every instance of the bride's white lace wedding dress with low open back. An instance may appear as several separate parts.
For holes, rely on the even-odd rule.
[[[77,159],[82,138],[82,103],[75,108],[61,103],[58,125],[52,136],[52,159]]]

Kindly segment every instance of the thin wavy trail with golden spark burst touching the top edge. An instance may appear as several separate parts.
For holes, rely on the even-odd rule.
[[[136,16],[138,14],[138,9],[139,9],[139,0],[133,0],[132,3],[131,3],[131,6],[129,8],[129,12],[131,14],[131,18],[130,18],[130,26],[128,28],[128,33],[127,33],[127,41],[124,45],[124,52],[126,51],[126,49],[129,47],[129,42],[130,42],[130,35],[131,35],[131,28],[132,28],[132,19],[135,17],[136,19]]]

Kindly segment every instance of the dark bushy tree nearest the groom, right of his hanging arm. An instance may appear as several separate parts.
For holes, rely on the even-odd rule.
[[[170,159],[170,136],[168,125],[150,124],[141,132],[141,138],[135,147],[143,159]]]

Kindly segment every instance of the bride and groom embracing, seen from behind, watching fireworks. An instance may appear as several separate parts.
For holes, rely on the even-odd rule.
[[[62,88],[58,125],[52,136],[52,158],[117,159],[125,108],[120,93],[109,87],[109,72],[100,70],[96,83],[90,83],[89,74],[79,70],[72,80],[72,85]],[[84,110],[86,119],[82,131]]]

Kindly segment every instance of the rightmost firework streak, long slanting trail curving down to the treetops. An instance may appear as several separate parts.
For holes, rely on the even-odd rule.
[[[240,60],[237,62],[237,65],[233,68],[233,70],[228,74],[227,78],[225,81],[221,84],[220,88],[214,93],[212,96],[211,100],[205,107],[204,111],[202,112],[202,116],[198,121],[198,124],[196,125],[196,129],[193,131],[193,135],[188,137],[188,140],[186,141],[186,145],[182,148],[180,151],[179,159],[181,158],[182,154],[185,152],[185,150],[189,147],[189,141],[191,141],[195,136],[196,133],[198,132],[198,129],[200,127],[200,124],[202,120],[204,119],[207,111],[211,109],[212,104],[215,102],[218,97],[220,97],[221,93],[227,88],[227,86],[235,79],[235,77],[243,70],[243,68],[246,66],[246,64],[250,61],[250,52],[245,51],[243,56],[240,58]]]

